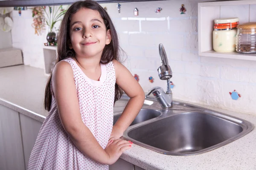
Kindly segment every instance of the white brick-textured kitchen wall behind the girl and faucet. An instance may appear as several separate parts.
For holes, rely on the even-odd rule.
[[[203,1],[120,3],[120,14],[117,3],[101,5],[107,7],[121,47],[127,53],[124,65],[132,74],[139,75],[139,83],[145,91],[154,86],[166,89],[166,81],[160,80],[157,74],[158,45],[163,43],[173,71],[175,99],[256,114],[256,62],[198,56],[197,3]],[[181,4],[185,5],[185,14],[180,14]],[[133,12],[135,7],[139,9],[137,17]],[[154,12],[158,7],[163,8],[159,14]],[[13,17],[13,46],[23,49],[26,65],[44,68],[42,45],[46,35],[34,34],[31,11],[22,11],[21,17],[14,11]],[[154,83],[148,81],[150,76]],[[241,94],[238,100],[231,99],[229,92],[233,90]]]

